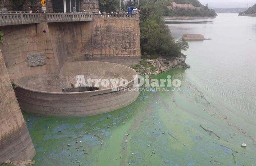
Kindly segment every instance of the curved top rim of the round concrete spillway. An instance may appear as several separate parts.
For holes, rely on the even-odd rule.
[[[100,62],[100,63],[109,63],[109,62],[101,62],[101,61],[88,61],[88,62]],[[123,86],[127,86],[129,85],[130,83],[132,83],[134,80],[136,80],[138,78],[138,73],[136,70],[134,70],[133,68],[131,67],[128,67],[128,66],[125,66],[125,65],[122,65],[122,64],[117,64],[117,63],[110,63],[110,64],[115,64],[115,65],[119,65],[119,66],[124,66],[124,67],[127,67],[129,69],[132,69],[136,76],[129,82],[127,82],[126,84],[123,84],[122,86],[119,85],[115,88],[118,88],[119,90],[122,90],[122,87]],[[22,89],[25,89],[27,91],[31,91],[31,92],[37,92],[37,93],[45,93],[45,94],[58,94],[58,95],[66,95],[66,94],[82,94],[82,93],[91,93],[92,91],[85,91],[85,92],[47,92],[47,91],[38,91],[38,90],[34,90],[34,89],[29,89],[29,88],[26,88],[22,85],[19,85],[19,83],[17,83],[16,81],[12,81],[12,83],[14,83],[17,87],[19,88],[22,88]],[[128,88],[128,87],[127,87]],[[100,89],[100,90],[96,90],[97,92],[104,92],[104,91],[108,91],[108,90],[111,90],[113,88],[106,88],[106,89]],[[117,90],[118,91],[118,90]]]

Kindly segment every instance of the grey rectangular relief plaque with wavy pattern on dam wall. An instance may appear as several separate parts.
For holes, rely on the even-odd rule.
[[[44,52],[27,54],[29,67],[46,64]]]

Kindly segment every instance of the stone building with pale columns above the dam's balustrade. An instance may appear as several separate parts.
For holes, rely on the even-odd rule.
[[[21,3],[23,1],[23,3]],[[41,0],[21,0],[16,4],[15,0],[0,0],[3,6],[2,10],[6,11],[27,11],[30,7],[33,12],[41,10]],[[0,9],[1,10],[1,9]],[[47,12],[92,12],[98,13],[98,0],[46,0]]]

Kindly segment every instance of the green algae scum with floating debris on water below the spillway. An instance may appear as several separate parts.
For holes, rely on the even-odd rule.
[[[229,125],[211,99],[186,81],[184,69],[151,77],[167,75],[181,79],[181,91],[141,91],[135,102],[110,113],[24,114],[35,165],[255,165],[249,133]]]

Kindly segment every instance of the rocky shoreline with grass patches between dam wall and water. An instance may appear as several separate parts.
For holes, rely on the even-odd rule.
[[[142,59],[138,65],[131,66],[139,75],[151,75],[165,73],[170,69],[189,68],[185,63],[187,56],[181,54],[179,57],[166,58],[158,56],[156,59]]]

